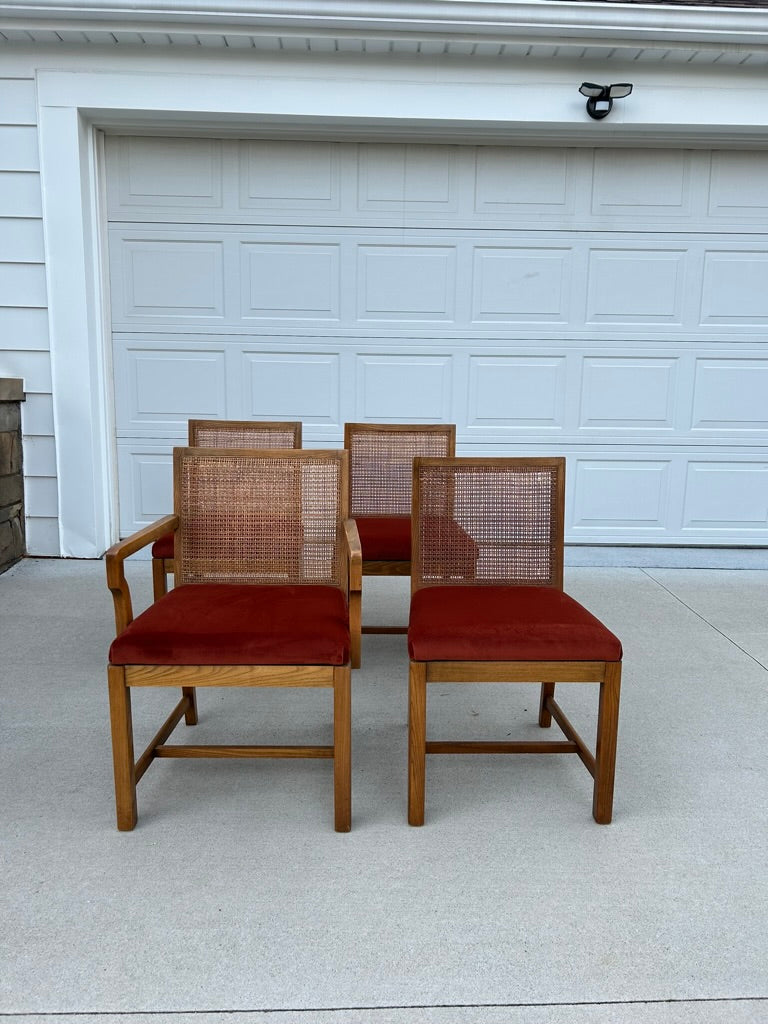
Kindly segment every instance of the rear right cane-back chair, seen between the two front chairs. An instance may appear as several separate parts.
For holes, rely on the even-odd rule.
[[[411,487],[416,456],[454,456],[453,423],[345,423],[349,514],[362,545],[364,575],[411,572]],[[407,627],[364,626],[364,633]]]

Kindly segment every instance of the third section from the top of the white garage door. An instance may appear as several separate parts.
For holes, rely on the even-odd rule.
[[[625,344],[618,355],[609,344],[585,350],[562,341],[495,348],[458,339],[425,345],[422,338],[140,334],[116,336],[115,345],[120,436],[178,431],[185,422],[179,410],[188,410],[210,418],[303,415],[329,426],[345,418],[453,420],[465,439],[502,444],[553,430],[566,443],[586,436],[631,443],[649,435],[664,443],[768,440],[768,358],[755,347],[734,357],[728,346],[710,345],[698,355]],[[322,368],[331,358],[329,378]],[[318,375],[305,391],[293,366]],[[412,380],[418,386],[410,392]],[[291,388],[291,400],[279,401]],[[324,393],[331,404],[318,409]]]

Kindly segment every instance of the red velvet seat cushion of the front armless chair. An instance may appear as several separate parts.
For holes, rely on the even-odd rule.
[[[551,587],[425,587],[411,602],[415,662],[618,662],[622,644]]]

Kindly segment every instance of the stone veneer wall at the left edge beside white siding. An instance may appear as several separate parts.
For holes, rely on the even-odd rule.
[[[22,381],[0,377],[0,572],[25,555]]]

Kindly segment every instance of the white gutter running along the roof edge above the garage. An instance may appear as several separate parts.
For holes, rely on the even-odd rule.
[[[736,44],[768,41],[768,9],[733,7],[672,7],[638,4],[557,2],[557,0],[0,0],[0,24],[24,28],[25,23],[81,24],[123,27],[158,23],[194,31],[250,29],[269,33],[321,32],[380,36],[423,34],[454,38],[499,36],[614,42],[653,39],[690,44]]]

